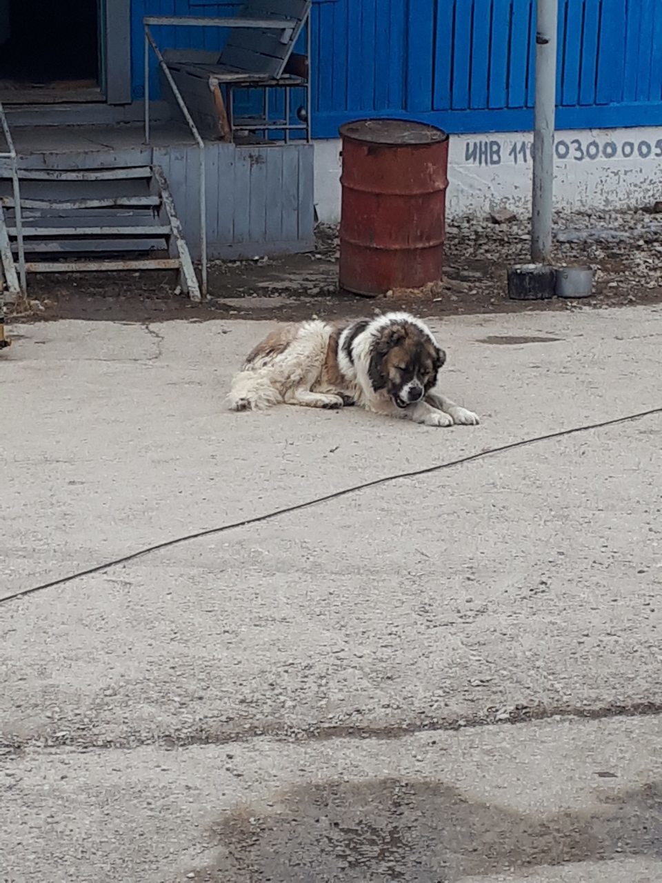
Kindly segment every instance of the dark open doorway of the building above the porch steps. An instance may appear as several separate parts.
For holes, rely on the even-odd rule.
[[[99,0],[0,0],[0,101],[103,101],[99,33]]]

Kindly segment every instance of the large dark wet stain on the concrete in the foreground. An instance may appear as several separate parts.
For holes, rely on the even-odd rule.
[[[606,787],[606,786],[597,786]],[[662,859],[662,784],[596,796],[593,811],[536,816],[470,800],[447,785],[326,781],[229,813],[198,883],[456,883],[515,869]]]

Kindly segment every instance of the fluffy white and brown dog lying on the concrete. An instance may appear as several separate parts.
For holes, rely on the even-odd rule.
[[[425,426],[475,425],[476,414],[434,389],[445,361],[432,331],[410,313],[344,326],[320,320],[285,325],[248,355],[232,381],[229,407],[357,404]]]

